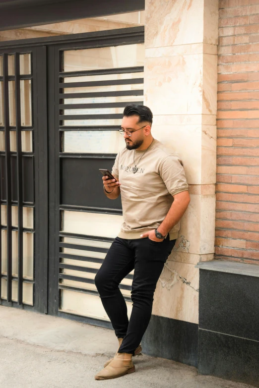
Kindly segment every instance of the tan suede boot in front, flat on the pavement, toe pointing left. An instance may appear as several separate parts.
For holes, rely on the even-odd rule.
[[[116,379],[133,372],[135,367],[132,363],[132,354],[117,353],[110,364],[97,373],[95,380]]]

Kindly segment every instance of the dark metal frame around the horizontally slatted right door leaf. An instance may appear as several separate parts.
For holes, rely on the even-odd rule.
[[[80,34],[81,35],[81,34]],[[75,36],[69,36],[65,42],[48,47],[48,69],[52,69],[48,76],[48,108],[49,108],[49,314],[73,319],[76,321],[112,328],[110,322],[68,314],[59,310],[60,289],[59,289],[59,253],[61,232],[61,210],[60,210],[60,144],[62,131],[60,131],[59,111],[59,78],[64,76],[60,68],[61,55],[64,50],[90,49],[109,46],[129,45],[144,43],[144,27],[132,27],[118,30],[99,31],[87,33],[80,40]],[[143,69],[142,69],[143,71]],[[87,130],[87,127],[84,127]],[[82,128],[83,130],[83,128]],[[109,157],[109,156],[108,156]],[[114,156],[110,156],[113,158]],[[52,167],[51,167],[52,166]],[[55,195],[54,195],[55,194]],[[100,193],[103,195],[103,193]],[[72,207],[67,208],[69,210]],[[87,211],[86,209],[76,209]],[[88,211],[102,212],[98,209]],[[122,214],[121,211],[108,211],[110,214]],[[76,237],[76,236],[74,236]],[[112,239],[105,239],[106,241]],[[80,290],[79,290],[80,291]]]

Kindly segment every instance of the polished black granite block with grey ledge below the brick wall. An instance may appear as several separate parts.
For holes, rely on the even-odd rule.
[[[197,267],[198,372],[259,387],[259,266]]]

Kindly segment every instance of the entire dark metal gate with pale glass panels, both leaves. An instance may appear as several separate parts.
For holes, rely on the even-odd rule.
[[[143,42],[144,28],[133,27],[0,44],[3,305],[110,325],[94,276],[118,233],[122,208],[120,200],[104,196],[98,168],[111,169],[122,145],[123,108],[143,103]],[[24,55],[31,69],[25,73]],[[19,85],[25,81],[24,94]],[[33,212],[30,224],[24,209]],[[33,236],[31,255],[25,234]],[[121,284],[129,310],[131,281],[129,274]]]

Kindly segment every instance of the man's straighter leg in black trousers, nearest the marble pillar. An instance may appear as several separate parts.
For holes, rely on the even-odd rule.
[[[135,250],[131,291],[133,307],[127,335],[123,339],[119,353],[133,354],[141,341],[151,318],[156,283],[175,241],[169,241],[169,236],[162,242],[155,242],[149,238],[130,240],[130,245]]]

